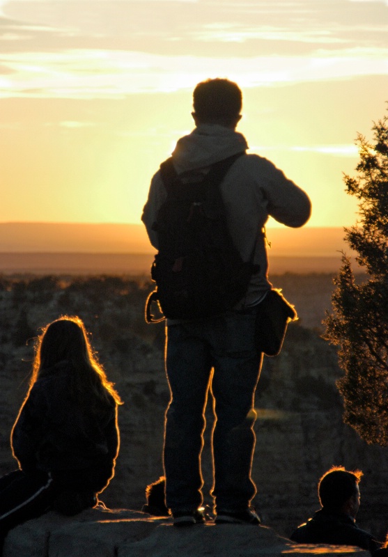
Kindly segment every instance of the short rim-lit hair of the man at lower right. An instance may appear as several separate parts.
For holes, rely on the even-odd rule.
[[[343,503],[357,494],[357,484],[361,478],[361,470],[349,472],[343,466],[333,466],[319,480],[320,504],[325,508],[340,510]]]

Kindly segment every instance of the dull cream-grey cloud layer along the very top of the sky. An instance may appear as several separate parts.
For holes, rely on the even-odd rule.
[[[266,49],[293,54],[291,47],[306,54],[322,44],[376,45],[387,33],[384,4],[374,1],[371,9],[367,0],[0,0],[1,6],[14,24],[23,22],[30,33],[24,47],[35,52],[116,49],[120,42],[121,49],[159,54],[176,52],[173,43],[180,54],[195,49],[199,56],[208,52],[208,43],[229,47],[225,55],[233,49],[237,56]],[[66,36],[72,41],[67,45]],[[17,37],[26,40],[21,30],[13,33],[14,47]]]

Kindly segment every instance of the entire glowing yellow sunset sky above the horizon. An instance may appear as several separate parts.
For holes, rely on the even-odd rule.
[[[238,130],[348,226],[357,132],[388,100],[388,2],[0,0],[0,221],[139,222],[192,130],[191,93],[228,77]]]

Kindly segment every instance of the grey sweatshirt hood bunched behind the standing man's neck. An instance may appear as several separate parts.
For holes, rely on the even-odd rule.
[[[172,156],[179,174],[205,168],[247,148],[242,134],[220,125],[201,124],[178,140]]]

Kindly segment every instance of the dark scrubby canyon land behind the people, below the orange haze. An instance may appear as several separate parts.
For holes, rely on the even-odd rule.
[[[254,503],[264,524],[290,535],[316,510],[316,480],[329,466],[359,467],[365,473],[359,524],[382,538],[387,528],[388,449],[368,446],[343,424],[335,386],[342,371],[335,347],[320,336],[330,308],[332,278],[331,273],[272,275],[274,286],[283,288],[295,304],[300,320],[290,324],[281,354],[264,360],[256,394]],[[119,411],[116,475],[102,499],[111,508],[141,508],[146,485],[162,474],[169,400],[164,324],[147,325],[143,317],[151,288],[145,276],[0,275],[0,474],[15,468],[9,435],[28,388],[33,338],[59,315],[77,314],[125,402]],[[211,400],[206,418],[210,430]],[[203,473],[208,492],[206,439]],[[205,502],[210,503],[208,495]]]

